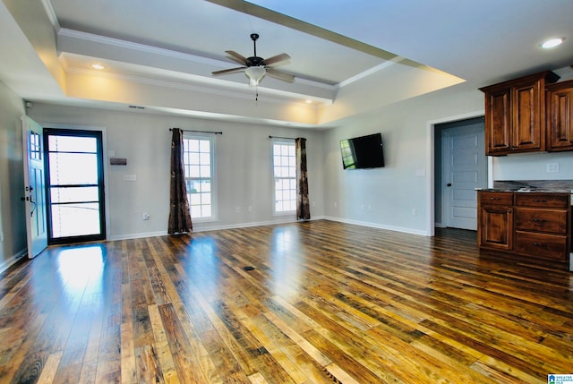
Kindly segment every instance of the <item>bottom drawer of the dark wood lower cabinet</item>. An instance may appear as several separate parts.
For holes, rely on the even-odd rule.
[[[515,251],[552,260],[567,260],[567,236],[516,231]]]

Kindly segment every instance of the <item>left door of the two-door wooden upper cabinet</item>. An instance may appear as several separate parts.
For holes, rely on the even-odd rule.
[[[485,154],[496,155],[511,150],[511,111],[507,87],[485,93]]]

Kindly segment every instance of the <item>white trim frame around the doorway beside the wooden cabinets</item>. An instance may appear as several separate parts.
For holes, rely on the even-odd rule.
[[[442,117],[440,119],[429,120],[426,122],[426,209],[428,215],[426,215],[426,234],[428,236],[436,235],[436,222],[435,222],[435,178],[436,178],[436,166],[435,164],[435,125],[453,123],[459,120],[466,120],[475,117],[480,117],[485,115],[485,109],[480,109],[474,112],[468,112],[461,115],[451,115]],[[491,188],[493,185],[493,158],[491,156],[487,157],[487,183],[488,187]]]

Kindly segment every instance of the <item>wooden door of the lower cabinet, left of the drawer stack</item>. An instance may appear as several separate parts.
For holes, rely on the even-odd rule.
[[[513,209],[482,206],[480,209],[479,246],[494,250],[513,250]]]

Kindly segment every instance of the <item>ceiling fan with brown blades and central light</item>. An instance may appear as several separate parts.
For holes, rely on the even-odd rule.
[[[295,76],[289,73],[284,73],[276,70],[272,65],[284,64],[287,60],[290,60],[290,56],[286,54],[280,54],[276,56],[269,57],[268,59],[263,59],[257,55],[257,39],[259,35],[257,33],[251,34],[252,46],[254,47],[254,55],[251,57],[244,57],[244,55],[237,54],[235,51],[225,51],[227,52],[227,57],[234,62],[241,64],[242,66],[224,69],[222,71],[215,71],[213,75],[218,76],[221,74],[228,73],[239,73],[244,72],[249,78],[251,85],[259,85],[265,74],[274,77],[275,79],[293,82],[295,81]]]

